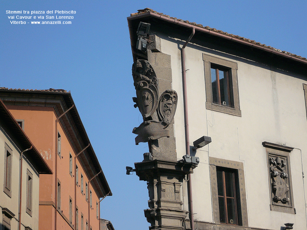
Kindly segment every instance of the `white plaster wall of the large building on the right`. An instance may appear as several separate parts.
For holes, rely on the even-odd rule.
[[[173,39],[161,34],[159,36],[162,38],[161,51],[171,55],[173,89],[178,93],[174,118],[177,158],[182,159],[185,155],[185,126],[181,52],[177,43],[182,47],[184,42],[175,39],[175,43]],[[200,164],[192,174],[194,218],[213,221],[209,155],[243,162],[249,226],[279,229],[284,223],[291,222],[295,223],[297,229],[306,229],[302,164],[304,170],[307,166],[307,119],[303,83],[307,81],[301,80],[302,76],[293,76],[282,70],[271,70],[266,65],[231,57],[194,44],[188,44],[185,53],[186,69],[189,69],[186,76],[190,145],[201,136],[212,138],[211,144],[196,152]],[[238,64],[242,117],[206,109],[203,53]],[[268,169],[263,141],[301,149],[294,149],[290,153],[292,192],[297,214],[270,211]],[[183,188],[184,208],[188,210],[186,183]],[[305,190],[307,191],[306,186]]]

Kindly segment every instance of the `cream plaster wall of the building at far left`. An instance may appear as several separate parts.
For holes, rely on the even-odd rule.
[[[9,197],[3,192],[4,184],[4,157],[5,143],[12,149],[12,184],[11,191],[12,195]],[[0,127],[0,206],[3,208],[8,208],[12,213],[15,214],[15,218],[19,218],[19,172],[20,172],[20,150],[14,144],[14,141],[10,139],[7,133]],[[32,189],[32,217],[26,213],[26,192],[27,192],[27,169],[33,174],[33,189]],[[21,223],[25,226],[29,226],[33,230],[38,230],[38,206],[39,206],[39,175],[29,161],[23,158],[23,168],[22,168],[22,202],[21,202]],[[11,229],[18,228],[18,221],[11,219]],[[0,224],[2,224],[2,216],[0,218]],[[24,226],[21,228],[24,229]]]

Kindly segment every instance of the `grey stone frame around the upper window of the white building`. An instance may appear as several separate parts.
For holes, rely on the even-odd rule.
[[[227,113],[241,117],[241,110],[239,105],[238,77],[237,77],[238,64],[232,61],[210,56],[204,53],[203,53],[203,61],[204,61],[205,87],[206,87],[206,98],[207,98],[206,108],[213,111]],[[213,104],[211,71],[210,71],[211,63],[214,65],[224,67],[229,70],[229,75],[231,75],[232,79],[231,91],[233,94],[234,108],[227,107],[225,105]]]

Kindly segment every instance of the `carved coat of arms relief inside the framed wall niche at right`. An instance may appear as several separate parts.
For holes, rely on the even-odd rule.
[[[287,193],[290,189],[287,183],[287,178],[289,176],[285,170],[286,162],[280,157],[270,157],[269,165],[272,193],[274,195],[272,200],[275,204],[287,204],[289,203]]]

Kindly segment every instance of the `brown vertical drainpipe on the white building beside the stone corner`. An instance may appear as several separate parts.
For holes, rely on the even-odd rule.
[[[187,81],[186,81],[186,70],[185,70],[185,47],[192,39],[195,33],[195,28],[192,27],[192,33],[188,40],[181,48],[181,68],[182,68],[182,83],[183,83],[183,100],[184,100],[184,114],[185,114],[185,148],[187,155],[190,155],[190,139],[189,139],[189,119],[188,119],[188,100],[187,100]],[[188,179],[188,205],[190,212],[190,224],[191,229],[194,230],[194,214],[193,214],[193,200],[192,200],[192,181],[191,174]]]

